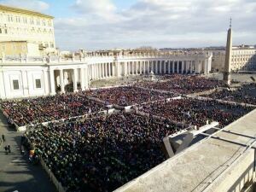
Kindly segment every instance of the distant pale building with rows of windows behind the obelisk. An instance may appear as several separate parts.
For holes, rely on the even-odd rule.
[[[212,50],[212,70],[224,72],[225,50]],[[231,53],[231,71],[255,71],[256,49],[233,47]]]

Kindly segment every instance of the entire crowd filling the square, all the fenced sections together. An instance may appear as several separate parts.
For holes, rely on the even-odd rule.
[[[253,110],[207,99],[166,100],[218,86],[222,86],[218,80],[174,74],[157,82],[5,101],[1,108],[16,125],[33,124],[26,131],[32,151],[29,160],[38,162],[38,157],[42,157],[67,192],[105,192],[117,189],[165,160],[163,137],[189,125],[200,127],[212,121],[224,127]],[[210,97],[255,104],[255,90],[254,84],[247,84],[233,91],[213,92]],[[90,96],[104,104],[94,102]],[[134,108],[146,115],[122,110],[107,115],[97,113],[107,109],[108,104],[139,104]],[[69,119],[86,113],[97,114]],[[58,119],[65,120],[40,124]]]

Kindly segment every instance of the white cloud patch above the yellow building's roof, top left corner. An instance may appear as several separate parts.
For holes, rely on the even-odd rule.
[[[19,8],[45,11],[49,9],[49,4],[39,0],[0,0],[1,4],[15,6]]]

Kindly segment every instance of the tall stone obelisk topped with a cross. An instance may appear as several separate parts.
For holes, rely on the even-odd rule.
[[[226,55],[224,63],[224,83],[230,85],[230,64],[232,57],[232,29],[231,29],[231,20],[230,19],[230,29],[228,30],[228,38],[226,44]]]

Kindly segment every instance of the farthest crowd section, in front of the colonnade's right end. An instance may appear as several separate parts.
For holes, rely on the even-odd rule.
[[[172,75],[166,76],[165,81],[158,82],[143,82],[138,85],[154,89],[166,90],[179,94],[190,94],[201,92],[205,90],[212,90],[218,86],[222,86],[222,81],[216,79],[206,79],[200,76],[187,76],[187,75]]]

